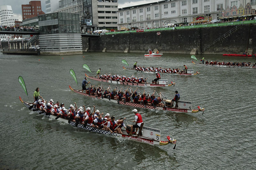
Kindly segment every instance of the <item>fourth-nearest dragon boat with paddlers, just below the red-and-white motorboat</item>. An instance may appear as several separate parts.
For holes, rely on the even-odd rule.
[[[171,69],[171,68],[164,68],[164,67],[143,67],[143,66],[136,66],[135,69],[132,68],[125,68],[123,67],[124,70],[126,71],[131,71],[131,72],[140,72],[140,73],[149,73],[149,74],[163,74],[163,75],[199,75],[199,72],[194,73],[194,70],[191,69]],[[187,71],[187,72],[186,72]]]

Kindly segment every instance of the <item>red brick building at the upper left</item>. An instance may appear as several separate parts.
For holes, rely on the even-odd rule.
[[[22,20],[44,14],[41,7],[41,1],[30,1],[29,4],[21,5],[21,10]]]

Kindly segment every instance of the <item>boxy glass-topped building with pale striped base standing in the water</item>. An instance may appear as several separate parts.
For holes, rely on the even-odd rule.
[[[54,12],[38,16],[42,55],[82,54],[79,14]]]

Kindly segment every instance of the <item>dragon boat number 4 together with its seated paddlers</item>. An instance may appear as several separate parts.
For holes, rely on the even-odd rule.
[[[152,109],[152,110],[164,110],[164,111],[171,111],[171,112],[178,112],[178,113],[196,113],[203,111],[204,108],[201,108],[200,106],[197,106],[198,109],[192,109],[192,102],[189,101],[181,101],[178,100],[173,107],[171,105],[172,100],[162,100],[162,93],[160,92],[160,95],[156,92],[156,90],[150,95],[149,92],[140,93],[137,92],[139,89],[135,89],[132,91],[131,88],[127,88],[126,90],[120,89],[116,87],[114,90],[109,86],[106,90],[102,88],[101,86],[98,86],[98,88],[91,86],[86,89],[85,92],[82,92],[81,90],[73,89],[71,86],[69,86],[69,89],[71,89],[73,92],[87,96],[96,98],[99,100],[104,101],[110,101],[116,104],[120,105],[127,105],[127,106],[133,106],[133,107],[139,107],[139,108],[145,108],[145,109]],[[112,90],[112,92],[110,92]],[[105,91],[104,93],[102,93]],[[158,95],[158,97],[155,96],[155,93]],[[165,101],[165,104],[163,103]]]

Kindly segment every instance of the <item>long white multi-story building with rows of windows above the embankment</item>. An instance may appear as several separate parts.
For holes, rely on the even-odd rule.
[[[218,19],[219,10],[247,3],[255,9],[256,0],[165,0],[120,8],[118,29],[164,27],[166,24],[194,22],[196,17]],[[194,20],[193,20],[194,19]]]

